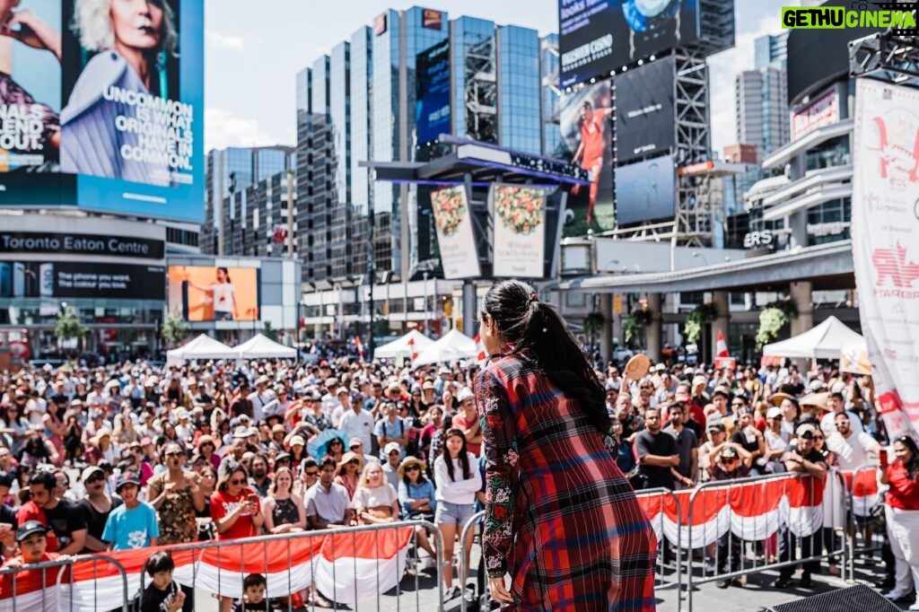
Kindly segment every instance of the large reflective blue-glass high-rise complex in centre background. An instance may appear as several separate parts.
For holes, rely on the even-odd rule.
[[[551,153],[557,87],[540,92],[558,72],[554,38],[415,6],[385,11],[304,68],[297,75],[303,280],[322,290],[366,276],[371,210],[376,270],[408,280],[435,266],[425,188],[374,182],[361,163],[436,157],[441,133]]]

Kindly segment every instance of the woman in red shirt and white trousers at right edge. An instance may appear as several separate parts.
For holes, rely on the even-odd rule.
[[[893,443],[890,464],[886,449],[879,452],[881,484],[889,484],[884,496],[887,538],[896,560],[896,584],[884,595],[900,601],[915,590],[919,595],[919,448],[912,437],[902,436]],[[919,601],[908,607],[919,610]]]

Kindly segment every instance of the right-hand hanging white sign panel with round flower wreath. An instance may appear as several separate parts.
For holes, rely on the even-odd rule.
[[[546,196],[541,187],[494,184],[494,276],[543,278],[546,257]]]

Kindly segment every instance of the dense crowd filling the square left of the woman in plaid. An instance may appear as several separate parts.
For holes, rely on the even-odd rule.
[[[25,552],[17,526],[40,525],[44,553],[74,555],[433,520],[449,485],[433,470],[446,429],[474,430],[480,452],[474,374],[346,359],[5,372],[4,559]],[[326,504],[321,487],[340,502]],[[433,557],[425,533],[417,543]]]

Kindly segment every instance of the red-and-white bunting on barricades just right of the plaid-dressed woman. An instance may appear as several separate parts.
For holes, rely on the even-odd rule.
[[[707,546],[728,531],[757,541],[776,533],[779,525],[799,537],[823,527],[823,482],[811,478],[725,482],[698,491],[640,493],[638,499],[657,538],[684,548]]]

